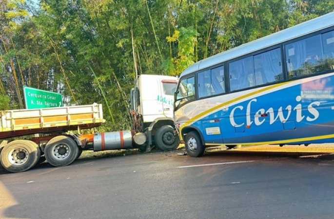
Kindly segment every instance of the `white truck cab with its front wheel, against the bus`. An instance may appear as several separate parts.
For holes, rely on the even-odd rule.
[[[145,133],[146,149],[173,150],[179,145],[173,119],[177,77],[141,74],[131,90],[133,129]],[[143,150],[145,146],[140,146]]]

